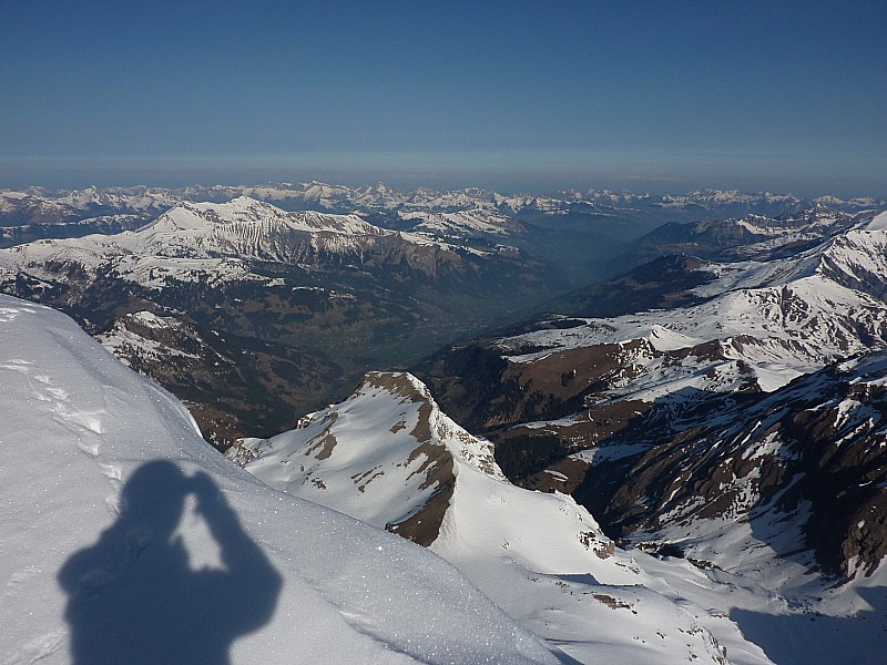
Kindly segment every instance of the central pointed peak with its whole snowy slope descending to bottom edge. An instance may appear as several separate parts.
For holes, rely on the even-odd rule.
[[[768,662],[724,611],[686,601],[644,572],[649,556],[614,548],[570,497],[510,484],[489,442],[410,375],[368,375],[343,403],[230,454],[272,487],[424,540],[580,662],[724,663],[724,647],[733,663]]]

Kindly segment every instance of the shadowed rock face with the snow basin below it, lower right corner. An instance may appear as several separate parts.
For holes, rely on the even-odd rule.
[[[885,352],[869,354],[684,413],[621,469],[602,521],[680,556],[683,576],[667,560],[644,569],[703,606],[726,604],[776,663],[881,663],[886,376]],[[608,482],[594,469],[587,481]]]

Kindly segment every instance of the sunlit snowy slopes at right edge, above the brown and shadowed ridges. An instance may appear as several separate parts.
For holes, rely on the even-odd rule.
[[[887,213],[788,259],[706,264],[718,279],[693,307],[573,319],[501,339],[512,362],[615,345],[612,392],[650,401],[681,389],[769,391],[887,344]]]

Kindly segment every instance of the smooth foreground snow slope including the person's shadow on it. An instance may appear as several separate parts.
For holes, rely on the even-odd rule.
[[[217,456],[53,310],[0,296],[0,386],[4,664],[223,663],[232,642],[234,663],[557,662],[434,554]]]

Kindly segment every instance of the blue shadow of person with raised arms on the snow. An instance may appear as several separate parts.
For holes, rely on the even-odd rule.
[[[218,544],[224,569],[192,570],[175,530],[185,499]],[[282,579],[212,479],[173,463],[139,468],[118,521],[59,572],[77,665],[224,665],[232,643],[268,622]]]

